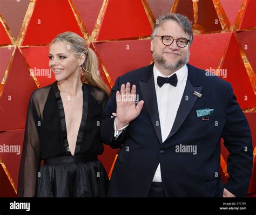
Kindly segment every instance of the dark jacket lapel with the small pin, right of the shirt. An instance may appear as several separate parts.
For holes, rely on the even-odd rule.
[[[190,113],[192,107],[194,106],[194,103],[196,103],[196,101],[199,99],[197,95],[194,95],[194,91],[201,93],[201,90],[203,89],[203,86],[199,86],[197,68],[191,66],[190,64],[187,64],[187,68],[188,76],[186,87],[180,101],[179,109],[177,111],[172,130],[170,131],[170,134],[168,135],[166,140],[168,140],[178,131],[180,126],[185,121],[187,115]]]

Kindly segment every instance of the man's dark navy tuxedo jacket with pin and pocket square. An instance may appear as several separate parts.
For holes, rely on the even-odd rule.
[[[164,142],[153,64],[117,78],[100,122],[103,141],[112,148],[120,148],[109,197],[147,197],[159,163],[167,197],[222,197],[224,187],[237,197],[246,196],[253,163],[252,139],[231,84],[207,76],[204,70],[190,64],[187,67],[183,98]],[[114,118],[110,116],[116,112],[116,92],[126,82],[136,85],[136,94],[145,103],[139,116],[114,140]],[[196,110],[205,108],[213,109],[213,113],[203,120]],[[230,177],[225,185],[219,174],[220,138],[230,151],[227,162]],[[191,151],[195,146],[196,154]]]

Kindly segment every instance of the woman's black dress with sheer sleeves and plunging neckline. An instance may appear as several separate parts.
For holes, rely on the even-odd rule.
[[[97,155],[108,96],[83,83],[83,114],[71,155],[57,81],[32,93],[19,169],[18,197],[105,197],[109,179]],[[43,164],[41,165],[41,162]]]

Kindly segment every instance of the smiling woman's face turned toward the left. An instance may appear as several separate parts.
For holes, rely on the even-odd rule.
[[[67,46],[62,43],[53,43],[49,50],[49,67],[55,74],[55,79],[61,81],[64,79],[80,77],[79,65],[83,63],[81,57],[73,54]]]

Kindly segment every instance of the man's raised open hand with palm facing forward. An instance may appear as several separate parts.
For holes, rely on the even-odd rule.
[[[142,110],[144,101],[141,100],[139,103],[135,104],[136,99],[136,86],[133,85],[132,89],[130,83],[127,82],[126,85],[121,86],[120,92],[116,93],[117,101],[117,117],[116,117],[116,128],[117,130],[126,126],[132,120],[140,114]]]

